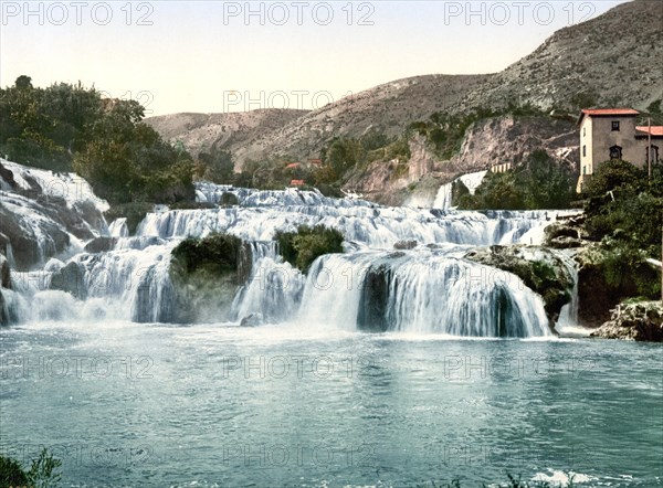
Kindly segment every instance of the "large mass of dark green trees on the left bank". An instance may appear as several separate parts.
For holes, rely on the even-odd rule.
[[[102,98],[80,83],[33,87],[29,76],[0,89],[0,152],[87,179],[112,203],[170,203],[193,195],[193,161],[141,123],[135,100]]]

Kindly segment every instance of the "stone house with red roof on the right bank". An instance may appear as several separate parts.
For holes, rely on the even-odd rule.
[[[589,181],[597,167],[610,159],[623,159],[641,168],[646,167],[648,127],[636,127],[640,113],[633,108],[583,109],[580,126],[580,178],[577,192]],[[652,162],[660,157],[663,127],[652,126]]]

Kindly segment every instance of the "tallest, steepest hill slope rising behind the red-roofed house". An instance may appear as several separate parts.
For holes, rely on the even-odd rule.
[[[561,29],[536,51],[469,91],[460,108],[578,105],[644,109],[663,95],[663,2],[622,3]]]

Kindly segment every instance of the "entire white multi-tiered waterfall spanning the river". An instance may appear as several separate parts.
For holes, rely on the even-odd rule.
[[[19,180],[29,184],[29,171],[21,171]],[[57,187],[52,183],[56,177],[40,178]],[[19,215],[32,208],[41,211],[39,201],[22,201],[7,182],[2,188],[14,202],[11,211]],[[125,219],[110,225],[102,219],[87,240],[76,240],[66,226],[69,221],[55,219],[72,236],[66,252],[57,255],[62,261],[51,259],[32,273],[14,269],[15,286],[4,293],[6,306],[9,303],[12,310],[20,310],[23,320],[105,317],[169,322],[176,315],[169,274],[172,248],[189,236],[228,232],[241,237],[250,254],[245,283],[228,314],[234,321],[259,315],[266,322],[298,322],[306,328],[505,338],[550,335],[538,295],[514,275],[462,258],[477,245],[530,243],[548,223],[546,212],[385,208],[326,198],[318,191],[197,183],[198,200],[210,206],[225,193],[233,194],[239,205],[156,208],[134,236]],[[103,208],[95,199],[88,201]],[[78,201],[65,199],[70,200]],[[69,212],[83,212],[73,203]],[[319,257],[303,275],[283,261],[273,241],[276,231],[295,231],[301,224],[338,229],[346,253]],[[41,229],[34,219],[25,225]],[[109,251],[83,252],[95,236],[103,236],[102,244]],[[33,236],[43,242],[46,237]],[[402,241],[414,242],[414,248],[393,251]],[[11,248],[4,251],[9,257]],[[40,259],[46,261],[55,251],[44,252]]]

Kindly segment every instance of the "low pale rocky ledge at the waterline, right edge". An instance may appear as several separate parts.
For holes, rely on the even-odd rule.
[[[663,341],[663,304],[639,301],[620,304],[612,309],[612,317],[590,337],[635,341]]]

